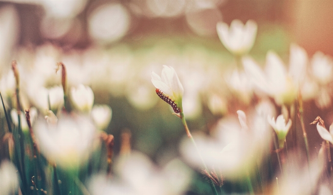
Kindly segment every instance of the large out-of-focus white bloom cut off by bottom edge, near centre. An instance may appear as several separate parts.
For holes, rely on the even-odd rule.
[[[182,195],[192,176],[192,171],[178,159],[158,169],[139,152],[120,156],[114,167],[120,180],[93,177],[89,185],[92,195]]]

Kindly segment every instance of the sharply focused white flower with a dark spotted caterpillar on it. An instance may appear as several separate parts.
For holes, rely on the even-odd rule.
[[[170,104],[175,112],[179,113],[182,111],[181,100],[184,88],[173,67],[163,65],[161,77],[152,72],[152,83],[156,87],[157,95],[162,100]]]

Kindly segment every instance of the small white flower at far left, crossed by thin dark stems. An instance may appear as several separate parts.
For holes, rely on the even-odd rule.
[[[31,107],[31,108],[29,108],[29,111],[30,111],[30,122],[31,122],[31,125],[33,125],[36,118],[37,118],[37,115],[38,115],[37,108]],[[19,119],[18,119],[17,109],[13,108],[10,111],[10,116],[11,116],[11,119],[12,119],[12,122],[14,123],[14,125],[18,126],[19,125]],[[23,131],[29,130],[28,124],[26,123],[26,118],[25,118],[25,112],[24,111],[21,111],[21,128],[22,128]]]

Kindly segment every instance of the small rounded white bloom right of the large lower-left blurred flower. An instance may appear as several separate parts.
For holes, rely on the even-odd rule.
[[[99,130],[105,130],[110,124],[112,110],[108,105],[94,105],[91,117]]]

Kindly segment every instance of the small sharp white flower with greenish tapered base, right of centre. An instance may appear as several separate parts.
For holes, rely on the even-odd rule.
[[[279,115],[276,120],[273,117],[270,119],[270,116],[267,116],[268,123],[272,126],[272,128],[275,130],[278,141],[279,141],[279,148],[284,147],[284,142],[287,136],[288,131],[291,127],[291,120],[288,120],[288,123],[286,124],[286,120],[283,117],[283,115]]]

